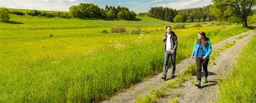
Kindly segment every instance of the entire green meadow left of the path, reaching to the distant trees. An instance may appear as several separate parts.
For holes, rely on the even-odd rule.
[[[25,12],[25,11],[24,11]],[[138,83],[163,66],[165,26],[151,17],[65,19],[10,14],[0,22],[1,102],[92,102]],[[211,22],[210,22],[211,23]],[[248,31],[241,25],[185,23],[178,36],[177,62],[190,56],[198,31],[211,43]],[[126,32],[111,33],[124,26]],[[130,31],[139,28],[140,35]],[[106,30],[109,33],[102,33]]]

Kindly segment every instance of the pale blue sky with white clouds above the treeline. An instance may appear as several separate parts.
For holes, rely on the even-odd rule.
[[[120,5],[125,6],[136,13],[147,12],[153,6],[163,6],[178,10],[203,7],[212,4],[211,0],[0,0],[0,8],[69,11],[70,6],[78,5],[81,2],[97,4],[99,8],[103,9],[105,9],[106,5],[115,7]]]

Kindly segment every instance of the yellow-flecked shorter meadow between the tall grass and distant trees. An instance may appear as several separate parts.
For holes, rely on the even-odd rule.
[[[16,64],[19,60],[42,58],[45,55],[58,57],[87,54],[115,42],[126,45],[125,40],[134,42],[139,37],[139,35],[129,35],[129,32],[136,28],[141,29],[145,37],[161,38],[165,32],[165,26],[173,25],[173,23],[151,17],[138,17],[140,20],[134,21],[45,18],[10,14],[10,18],[13,22],[23,24],[0,22],[0,57],[4,58],[0,59],[0,67],[5,64]],[[187,23],[187,25],[191,24]],[[112,26],[125,26],[127,32],[111,33]],[[226,29],[232,29],[235,26],[238,25],[229,25]],[[201,28],[203,31],[217,29],[221,29],[221,26]],[[109,33],[101,33],[103,30]],[[174,31],[178,37],[186,37],[193,32],[198,32],[191,27],[174,29]]]

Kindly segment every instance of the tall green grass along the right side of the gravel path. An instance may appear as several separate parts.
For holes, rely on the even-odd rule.
[[[218,102],[255,102],[256,98],[256,36],[242,50],[237,63],[223,75],[219,84]]]

